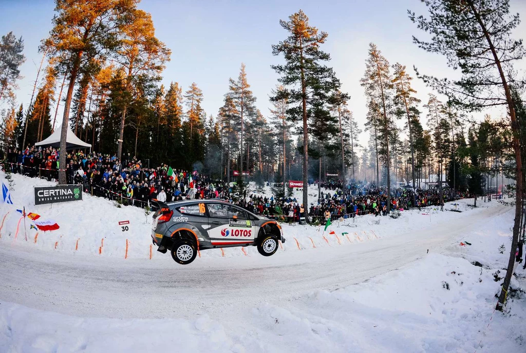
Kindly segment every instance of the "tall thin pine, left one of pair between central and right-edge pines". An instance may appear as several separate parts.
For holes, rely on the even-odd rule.
[[[366,60],[366,71],[363,78],[360,80],[360,84],[365,88],[366,96],[368,98],[376,99],[379,102],[382,113],[382,121],[378,124],[377,128],[382,136],[383,148],[382,157],[385,161],[387,168],[387,211],[390,211],[391,207],[391,174],[390,174],[390,163],[391,157],[389,155],[389,128],[393,122],[390,117],[387,116],[387,110],[389,106],[389,91],[392,89],[391,75],[389,73],[389,61],[383,57],[380,50],[375,44],[369,44],[369,56]]]

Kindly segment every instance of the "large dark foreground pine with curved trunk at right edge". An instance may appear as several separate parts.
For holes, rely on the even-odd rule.
[[[515,249],[519,241],[522,205],[522,157],[520,128],[514,110],[512,87],[522,86],[515,79],[513,64],[526,52],[522,40],[513,40],[511,32],[519,25],[519,15],[510,15],[509,0],[425,0],[429,18],[409,12],[409,18],[418,28],[430,33],[430,42],[413,37],[414,43],[431,53],[440,53],[448,59],[448,65],[460,69],[458,80],[443,80],[423,75],[424,81],[453,105],[481,110],[484,107],[505,105],[508,108],[515,153],[515,219],[513,237],[499,303],[502,310],[511,281],[515,261]]]

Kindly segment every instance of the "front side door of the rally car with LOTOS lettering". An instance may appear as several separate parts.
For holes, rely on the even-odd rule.
[[[252,221],[240,207],[227,203],[209,203],[208,214],[208,235],[212,245],[246,244],[254,241]]]

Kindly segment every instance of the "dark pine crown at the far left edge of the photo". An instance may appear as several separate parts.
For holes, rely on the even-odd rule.
[[[16,39],[13,32],[2,36],[0,40],[0,102],[6,97],[14,98],[13,89],[21,79],[19,67],[26,61],[22,54],[24,40]]]

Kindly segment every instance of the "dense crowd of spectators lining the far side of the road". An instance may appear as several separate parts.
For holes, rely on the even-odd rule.
[[[56,180],[58,177],[59,152],[54,148],[31,148],[25,151],[9,151],[7,162],[14,173],[29,177]],[[265,195],[250,194],[246,191],[236,197],[233,187],[222,180],[212,180],[197,171],[171,170],[166,165],[148,168],[143,162],[129,154],[123,159],[100,153],[68,152],[66,177],[70,184],[83,184],[84,192],[115,200],[128,205],[146,207],[152,199],[171,202],[183,199],[227,200],[244,209],[265,216],[280,217],[289,222],[300,221],[304,205],[295,198],[275,199]],[[316,182],[315,182],[316,184]],[[308,208],[309,216],[320,222],[329,216],[356,217],[373,214],[388,214],[387,188],[373,183],[349,182],[342,180],[324,181],[323,189],[316,204]],[[466,194],[443,189],[442,202],[466,197]],[[440,205],[438,189],[416,190],[416,204],[413,190],[397,188],[391,191],[391,210],[411,207]]]

